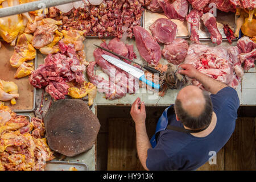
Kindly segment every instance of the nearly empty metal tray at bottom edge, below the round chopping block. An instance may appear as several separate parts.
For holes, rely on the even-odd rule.
[[[69,168],[75,167],[77,171],[88,171],[88,166],[85,163],[67,162],[59,160],[51,160],[46,162],[45,171],[69,171]]]

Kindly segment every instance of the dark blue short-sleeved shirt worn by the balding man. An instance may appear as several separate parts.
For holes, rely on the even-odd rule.
[[[216,153],[228,142],[237,119],[240,105],[236,90],[226,87],[210,95],[217,123],[207,137],[195,137],[174,130],[160,131],[155,148],[147,151],[146,166],[150,170],[195,170],[206,163],[211,153]],[[172,116],[170,125],[183,127]]]

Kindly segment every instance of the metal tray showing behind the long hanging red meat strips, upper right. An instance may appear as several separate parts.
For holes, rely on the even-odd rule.
[[[217,22],[217,28],[218,31],[220,31],[220,34],[222,35],[222,40],[227,40],[226,35],[223,30],[223,24],[228,24],[228,26],[233,30],[233,32],[236,31],[236,21],[238,16],[233,13],[225,13],[223,11],[217,10],[217,16],[216,16],[216,22]],[[200,20],[200,26],[199,26],[199,39],[200,40],[211,40],[210,39],[210,33],[207,30],[207,28],[204,26],[204,23],[202,20]],[[238,40],[238,38],[233,40]]]

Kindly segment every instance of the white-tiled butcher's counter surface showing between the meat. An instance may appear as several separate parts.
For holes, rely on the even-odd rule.
[[[109,39],[106,39],[106,42],[108,43]],[[189,41],[189,40],[188,40]],[[93,51],[96,49],[93,44],[100,45],[102,43],[102,40],[97,38],[88,38],[85,39],[85,52],[86,52],[86,60],[87,61],[94,61],[93,57]],[[137,61],[138,63],[143,63],[142,57],[138,53],[138,49],[135,46],[135,40],[134,39],[127,39],[126,44],[133,44],[134,45],[134,52],[137,55]],[[208,44],[209,46],[213,46],[212,43],[209,41],[203,42],[203,44]],[[228,46],[229,44],[227,42],[223,42],[222,45]],[[236,46],[236,42],[233,42],[232,46]],[[37,64],[43,64],[44,63],[44,55],[38,53],[37,57]],[[161,59],[160,63],[167,64],[167,60]],[[96,69],[96,74],[100,75],[101,77],[105,77],[108,79],[108,76],[105,75],[100,69]],[[242,84],[238,86],[237,93],[240,98],[240,105],[256,105],[256,69],[252,68],[250,71],[246,72],[243,76]],[[87,78],[86,78],[86,81]],[[135,94],[126,94],[125,97],[109,101],[105,99],[104,93],[97,93],[96,98],[94,99],[94,104],[92,106],[93,113],[97,114],[97,106],[99,105],[115,105],[115,106],[122,106],[122,105],[131,105],[137,97],[140,97],[141,100],[146,104],[146,106],[169,106],[171,104],[174,104],[175,98],[177,96],[177,93],[179,90],[167,90],[167,93],[164,97],[159,97],[158,93],[153,93],[152,91],[147,90],[146,88],[139,89],[138,93]],[[48,97],[51,99],[48,94],[44,93],[45,97]],[[39,102],[42,98],[42,89],[37,90],[36,97],[38,98],[36,101]],[[40,105],[40,103],[37,103],[37,105]],[[48,108],[48,106],[46,106]],[[73,158],[65,158],[64,160],[67,161],[73,161],[73,162],[82,162],[86,163],[88,165],[89,170],[94,171],[96,169],[96,147],[95,145],[90,149],[88,152],[84,152],[83,154],[80,154],[78,156],[75,156]]]

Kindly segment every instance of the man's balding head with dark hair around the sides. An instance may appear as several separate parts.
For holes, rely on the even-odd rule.
[[[212,101],[208,92],[197,86],[186,86],[177,94],[175,113],[190,129],[202,129],[212,120]]]

